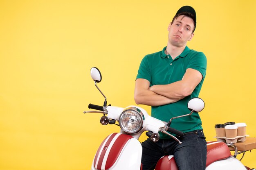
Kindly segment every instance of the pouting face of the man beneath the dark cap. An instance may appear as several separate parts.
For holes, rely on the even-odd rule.
[[[187,41],[190,41],[194,36],[193,29],[194,22],[192,18],[180,15],[173,21],[173,24],[170,23],[168,26],[169,43],[176,47],[185,46]]]

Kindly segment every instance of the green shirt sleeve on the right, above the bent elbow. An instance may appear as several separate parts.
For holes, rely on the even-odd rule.
[[[193,57],[191,57],[189,64],[187,65],[187,69],[192,68],[198,70],[203,78],[206,76],[206,68],[207,68],[207,58],[202,52],[197,52]]]

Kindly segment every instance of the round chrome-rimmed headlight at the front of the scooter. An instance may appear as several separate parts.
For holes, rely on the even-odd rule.
[[[125,109],[119,116],[119,126],[126,133],[137,133],[143,127],[144,115],[136,107]]]

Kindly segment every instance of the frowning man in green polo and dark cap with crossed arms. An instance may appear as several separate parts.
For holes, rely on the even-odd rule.
[[[135,102],[150,105],[151,116],[168,122],[190,113],[187,102],[198,97],[206,74],[207,59],[186,44],[194,36],[196,13],[181,7],[168,26],[168,43],[162,51],[146,55],[139,66],[135,83]],[[185,133],[182,144],[163,133],[158,142],[142,142],[143,170],[153,170],[164,155],[174,155],[179,170],[204,170],[206,141],[198,113],[174,119],[172,128]]]

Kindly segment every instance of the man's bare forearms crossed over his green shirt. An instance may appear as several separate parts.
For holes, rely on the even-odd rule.
[[[135,82],[134,99],[136,104],[160,106],[177,102],[194,91],[202,80],[202,74],[195,69],[188,68],[181,81],[167,85],[153,85],[143,78]]]

